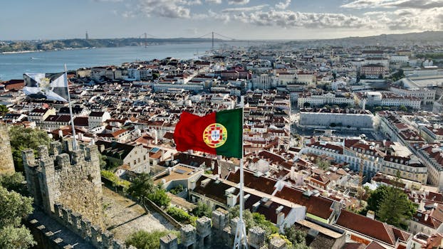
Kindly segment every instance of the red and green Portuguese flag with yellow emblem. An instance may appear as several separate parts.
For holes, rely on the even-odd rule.
[[[212,112],[200,117],[182,112],[175,126],[174,141],[180,152],[199,152],[242,157],[243,109]]]

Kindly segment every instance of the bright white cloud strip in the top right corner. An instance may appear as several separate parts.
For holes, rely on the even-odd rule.
[[[348,9],[432,9],[443,7],[443,0],[356,0],[340,7]]]

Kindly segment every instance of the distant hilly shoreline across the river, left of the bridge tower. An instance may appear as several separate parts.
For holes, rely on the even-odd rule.
[[[216,41],[222,41],[214,39]],[[110,39],[66,39],[48,41],[0,41],[0,53],[21,51],[53,51],[71,48],[114,48],[145,46],[163,43],[195,43],[211,41],[210,38],[110,38]]]

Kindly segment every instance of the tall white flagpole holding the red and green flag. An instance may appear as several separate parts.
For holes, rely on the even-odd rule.
[[[235,231],[234,249],[248,248],[248,242],[246,237],[246,224],[244,223],[243,211],[244,211],[244,173],[243,173],[243,157],[244,157],[244,142],[243,142],[243,128],[244,128],[244,99],[241,106],[241,159],[240,159],[240,211],[239,211],[239,223],[237,223]]]

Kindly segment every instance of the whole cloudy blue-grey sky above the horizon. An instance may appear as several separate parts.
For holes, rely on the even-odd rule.
[[[85,38],[86,31],[89,38],[214,31],[293,40],[441,30],[443,0],[5,0],[0,9],[0,41]]]

